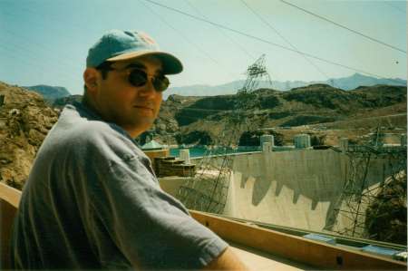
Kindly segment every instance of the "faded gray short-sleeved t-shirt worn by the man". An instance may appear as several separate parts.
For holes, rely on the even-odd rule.
[[[194,269],[226,247],[160,189],[126,131],[75,103],[34,160],[12,262],[23,269]]]

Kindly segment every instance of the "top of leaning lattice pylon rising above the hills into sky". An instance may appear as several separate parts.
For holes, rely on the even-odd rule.
[[[253,92],[257,90],[259,82],[266,81],[272,86],[267,67],[265,66],[265,53],[262,54],[255,63],[251,64],[247,69],[247,80],[244,86],[238,90],[239,92]]]

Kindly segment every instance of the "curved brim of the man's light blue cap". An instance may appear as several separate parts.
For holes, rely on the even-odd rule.
[[[170,53],[164,53],[160,51],[139,51],[132,53],[122,53],[117,56],[108,58],[106,61],[122,61],[134,58],[139,58],[145,55],[154,55],[159,58],[162,64],[163,73],[165,74],[176,74],[181,73],[183,70],[183,65],[180,60]]]

